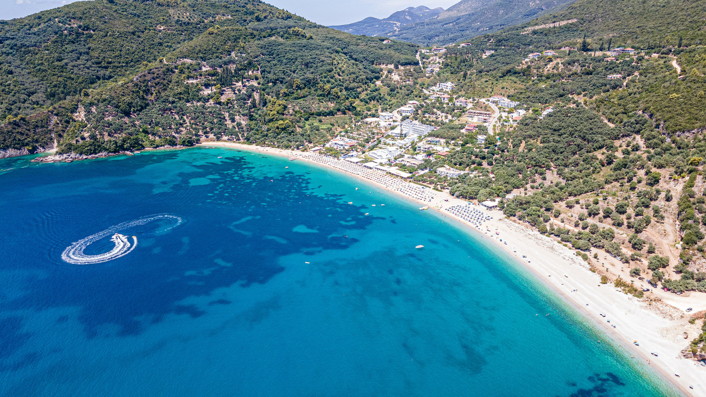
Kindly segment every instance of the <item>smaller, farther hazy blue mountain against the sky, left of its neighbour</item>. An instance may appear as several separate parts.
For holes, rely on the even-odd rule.
[[[417,23],[438,16],[443,8],[429,8],[425,6],[407,7],[402,11],[393,13],[388,18],[378,19],[373,17],[359,20],[348,25],[330,26],[330,28],[352,33],[353,35],[380,36],[388,32],[395,32],[400,26]]]

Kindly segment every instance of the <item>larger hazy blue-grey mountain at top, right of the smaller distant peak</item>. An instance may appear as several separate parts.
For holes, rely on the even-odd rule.
[[[561,11],[575,0],[462,0],[448,10],[387,34],[422,45],[450,44]]]

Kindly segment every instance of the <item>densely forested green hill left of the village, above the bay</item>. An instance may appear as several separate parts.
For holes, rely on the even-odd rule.
[[[296,135],[288,116],[354,111],[379,66],[415,51],[256,0],[81,1],[0,22],[0,149]]]

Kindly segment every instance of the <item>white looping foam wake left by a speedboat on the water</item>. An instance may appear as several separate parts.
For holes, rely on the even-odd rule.
[[[107,228],[99,233],[95,233],[92,236],[88,236],[86,238],[83,238],[82,240],[76,241],[76,243],[73,243],[70,247],[66,248],[66,250],[61,253],[61,259],[64,259],[64,262],[68,262],[71,264],[95,264],[101,262],[108,262],[109,260],[117,259],[119,257],[128,255],[128,253],[130,253],[132,250],[135,249],[135,247],[137,247],[137,237],[132,236],[133,242],[130,243],[130,239],[127,236],[124,236],[117,232],[133,226],[148,224],[152,221],[157,221],[160,219],[168,219],[173,222],[172,226],[163,228],[160,231],[167,231],[181,224],[181,218],[179,218],[179,216],[169,214],[145,216],[134,221],[123,222],[121,224],[111,226],[110,228]],[[83,250],[85,250],[88,245],[95,243],[96,241],[101,240],[102,238],[110,236],[111,234],[113,236],[112,238],[110,238],[110,240],[115,243],[115,247],[112,250],[98,255],[86,255],[83,253]]]

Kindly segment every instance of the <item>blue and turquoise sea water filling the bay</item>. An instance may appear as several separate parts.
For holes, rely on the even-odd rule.
[[[203,147],[6,169],[2,396],[676,395],[490,243],[344,174]],[[61,258],[155,214],[181,224]]]

